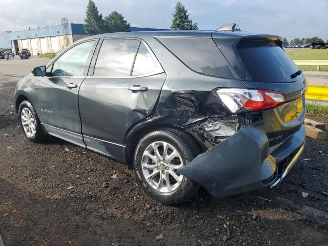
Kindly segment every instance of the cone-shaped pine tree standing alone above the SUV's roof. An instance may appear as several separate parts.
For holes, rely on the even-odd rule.
[[[198,30],[197,23],[193,24],[192,20],[189,19],[187,9],[180,1],[175,5],[171,28],[173,30]]]

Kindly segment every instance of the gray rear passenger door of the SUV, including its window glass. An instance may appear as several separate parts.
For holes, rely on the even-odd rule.
[[[151,115],[166,74],[144,41],[102,42],[79,91],[82,133],[87,148],[122,161],[127,131]]]

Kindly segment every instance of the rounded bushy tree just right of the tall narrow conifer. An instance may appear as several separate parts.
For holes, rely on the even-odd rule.
[[[124,19],[124,16],[114,11],[104,19],[105,32],[127,32],[130,29],[130,24]]]

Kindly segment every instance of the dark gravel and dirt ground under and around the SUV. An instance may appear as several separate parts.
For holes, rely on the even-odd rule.
[[[145,195],[121,163],[57,138],[29,142],[13,108],[17,80],[0,75],[0,235],[6,246],[328,245],[326,141],[307,139],[300,169],[278,189],[218,201],[201,189],[168,207]],[[328,127],[327,118],[320,120]]]

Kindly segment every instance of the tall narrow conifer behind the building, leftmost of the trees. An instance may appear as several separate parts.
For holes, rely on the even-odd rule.
[[[99,11],[92,0],[89,0],[86,18],[84,19],[84,30],[89,35],[94,35],[103,32],[103,15]]]

